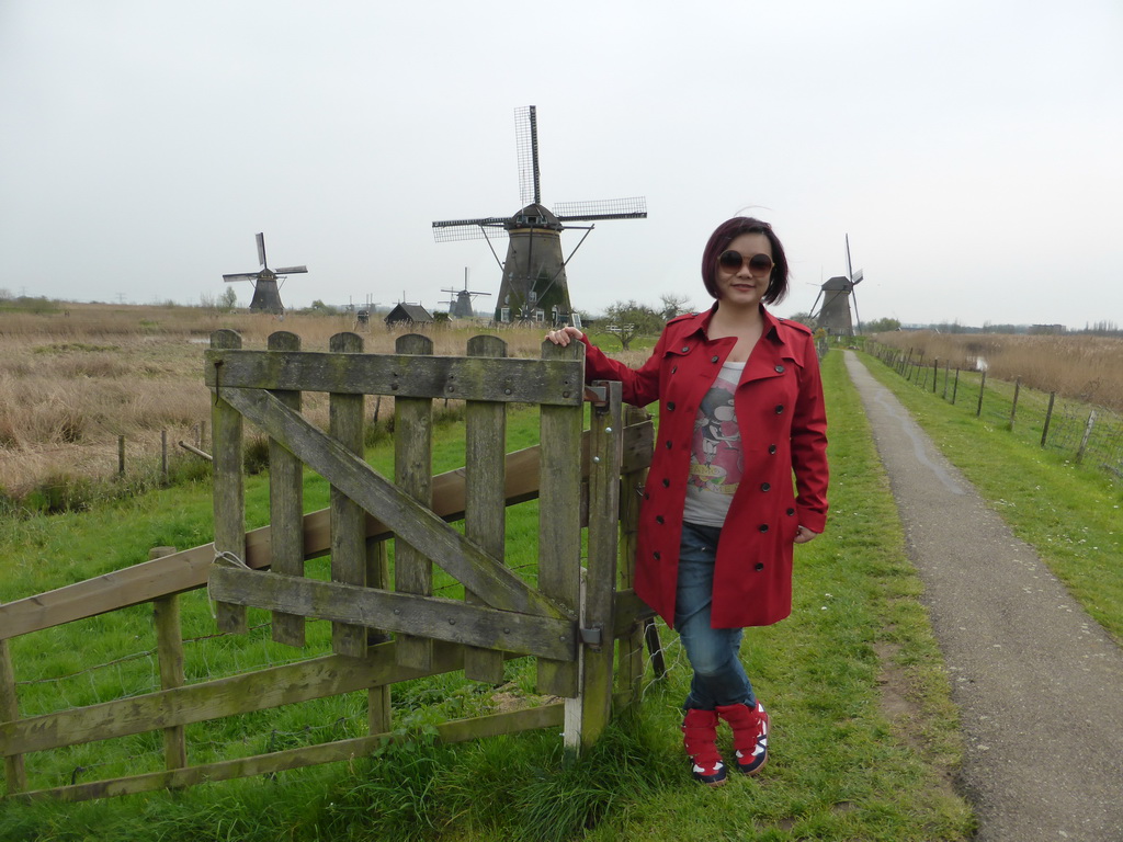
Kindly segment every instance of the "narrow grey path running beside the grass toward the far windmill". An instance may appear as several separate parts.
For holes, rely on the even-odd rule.
[[[1123,842],[1123,650],[857,357],[959,705],[985,842]],[[1046,492],[1042,492],[1046,493]]]

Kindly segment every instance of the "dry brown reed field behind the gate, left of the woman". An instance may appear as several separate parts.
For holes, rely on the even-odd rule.
[[[126,469],[158,463],[161,431],[170,447],[197,443],[210,419],[203,351],[210,333],[238,331],[247,348],[289,330],[305,350],[327,350],[331,336],[356,330],[349,315],[221,313],[202,308],[66,304],[52,313],[0,312],[0,493],[21,497],[49,477],[109,478],[118,437]],[[369,353],[393,353],[403,329],[375,322],[358,330]],[[432,327],[435,351],[460,355],[483,329]],[[538,356],[540,329],[504,329],[512,356]],[[373,399],[371,412],[373,412]],[[309,394],[309,418],[326,423],[326,395]],[[392,402],[381,403],[383,415]],[[206,443],[206,442],[204,442]]]

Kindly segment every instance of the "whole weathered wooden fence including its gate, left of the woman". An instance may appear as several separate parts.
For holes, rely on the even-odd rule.
[[[634,488],[650,460],[652,429],[642,413],[624,427],[620,384],[586,388],[581,345],[544,344],[541,359],[508,358],[495,337],[472,339],[464,357],[432,356],[431,342],[416,335],[401,337],[393,355],[363,354],[354,333],[334,337],[329,353],[301,351],[299,337],[284,331],[270,337],[267,350],[240,345],[237,333],[218,331],[206,361],[214,395],[214,542],[0,605],[8,797],[77,800],[366,756],[400,736],[391,705],[395,683],[454,670],[494,683],[504,660],[521,656],[538,659],[539,692],[564,701],[445,722],[440,739],[562,726],[572,753],[594,741],[613,703],[636,697],[645,640],[658,655],[650,612],[630,589]],[[328,431],[301,415],[305,391],[329,393]],[[392,478],[362,458],[366,394],[395,399]],[[466,402],[466,464],[432,476],[432,401],[447,397]],[[586,397],[593,405],[583,430]],[[540,408],[541,443],[505,454],[513,403]],[[250,532],[245,419],[270,437],[271,448],[271,523]],[[305,466],[331,483],[329,509],[303,512]],[[505,507],[535,497],[532,586],[503,559]],[[450,525],[458,520],[463,532]],[[304,561],[328,553],[331,580],[304,577]],[[433,595],[435,564],[464,584],[463,601]],[[247,607],[255,606],[272,612],[274,640],[302,647],[305,622],[326,619],[332,653],[188,684],[177,595],[203,586],[217,603],[220,630],[246,631]],[[148,602],[162,689],[20,716],[9,639]],[[190,763],[188,725],[355,690],[367,693],[364,736]],[[163,733],[164,770],[28,791],[27,756],[147,732]]]

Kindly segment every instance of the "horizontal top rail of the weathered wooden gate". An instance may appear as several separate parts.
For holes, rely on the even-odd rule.
[[[382,394],[395,400],[582,403],[583,366],[564,358],[544,364],[539,359],[435,357],[431,351],[413,355],[395,350],[398,354],[363,354],[354,360],[339,360],[332,354],[311,351],[276,355],[216,349],[206,355],[207,385],[214,385],[214,367],[220,364],[222,385],[244,388]]]

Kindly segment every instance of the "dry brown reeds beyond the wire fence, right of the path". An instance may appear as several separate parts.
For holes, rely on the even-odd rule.
[[[985,367],[988,377],[1123,412],[1123,339],[1006,333],[878,333],[882,345],[952,368]]]

